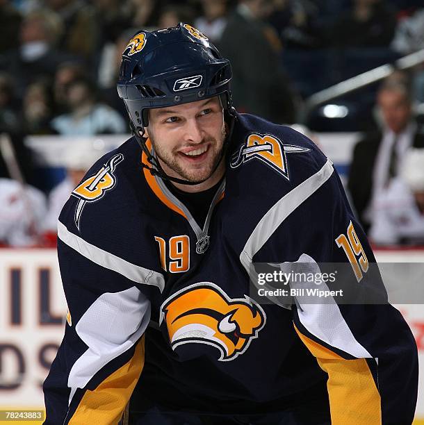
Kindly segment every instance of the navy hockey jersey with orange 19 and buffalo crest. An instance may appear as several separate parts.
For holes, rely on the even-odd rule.
[[[411,423],[418,360],[398,310],[250,296],[254,263],[350,263],[360,285],[375,262],[331,161],[252,115],[237,116],[230,143],[204,223],[142,168],[135,138],[72,193],[58,222],[69,311],[46,424],[116,424],[130,399],[134,411],[279,411],[317,385],[332,424]]]

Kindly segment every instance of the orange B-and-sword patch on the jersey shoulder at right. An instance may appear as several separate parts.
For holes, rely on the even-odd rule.
[[[307,151],[309,151],[308,148],[283,144],[281,140],[273,135],[253,133],[247,136],[245,144],[231,158],[231,167],[236,168],[256,158],[270,165],[272,169],[275,169],[276,172],[289,180],[286,153]]]

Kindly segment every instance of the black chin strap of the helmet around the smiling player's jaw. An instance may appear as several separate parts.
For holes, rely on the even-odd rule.
[[[225,136],[224,144],[223,144],[222,150],[221,150],[220,159],[218,160],[218,163],[216,163],[215,167],[213,168],[211,176],[218,169],[222,159],[225,157],[225,153],[227,152],[228,145],[229,145],[229,140],[231,139],[231,135],[233,134],[234,121],[235,121],[236,117],[232,113],[227,113],[227,115],[229,115],[229,117],[230,117],[229,131],[228,131],[227,135]],[[131,126],[131,130],[133,131],[133,135],[136,137],[136,140],[137,140],[138,144],[140,144],[142,151],[147,156],[147,161],[150,164],[152,164],[152,167],[149,167],[148,165],[146,165],[144,163],[141,163],[141,165],[142,165],[143,168],[148,169],[150,174],[152,174],[152,176],[158,176],[160,178],[163,178],[164,180],[173,181],[174,183],[179,183],[180,185],[199,185],[200,183],[203,183],[204,181],[208,180],[208,178],[211,177],[211,176],[209,176],[209,177],[206,177],[203,180],[199,180],[199,181],[188,181],[188,180],[184,180],[183,178],[168,176],[168,174],[166,174],[165,171],[163,170],[163,168],[161,167],[161,164],[159,163],[158,159],[156,157],[154,157],[152,155],[152,153],[150,153],[149,149],[147,149],[147,145],[146,145],[147,138],[145,137],[145,128],[144,127],[138,127],[140,129],[140,131],[142,132],[142,134],[140,135],[138,128],[136,128],[134,126],[134,124],[131,120],[130,120],[130,126]]]

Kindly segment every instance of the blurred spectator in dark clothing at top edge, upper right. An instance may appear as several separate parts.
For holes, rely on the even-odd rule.
[[[396,12],[382,0],[354,0],[352,10],[336,20],[329,33],[335,47],[389,47]]]

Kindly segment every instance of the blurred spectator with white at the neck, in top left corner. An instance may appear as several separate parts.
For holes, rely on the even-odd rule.
[[[19,49],[6,55],[6,68],[17,82],[20,99],[26,85],[43,77],[52,79],[58,65],[70,58],[55,48],[61,32],[60,18],[50,10],[36,10],[24,17]]]

